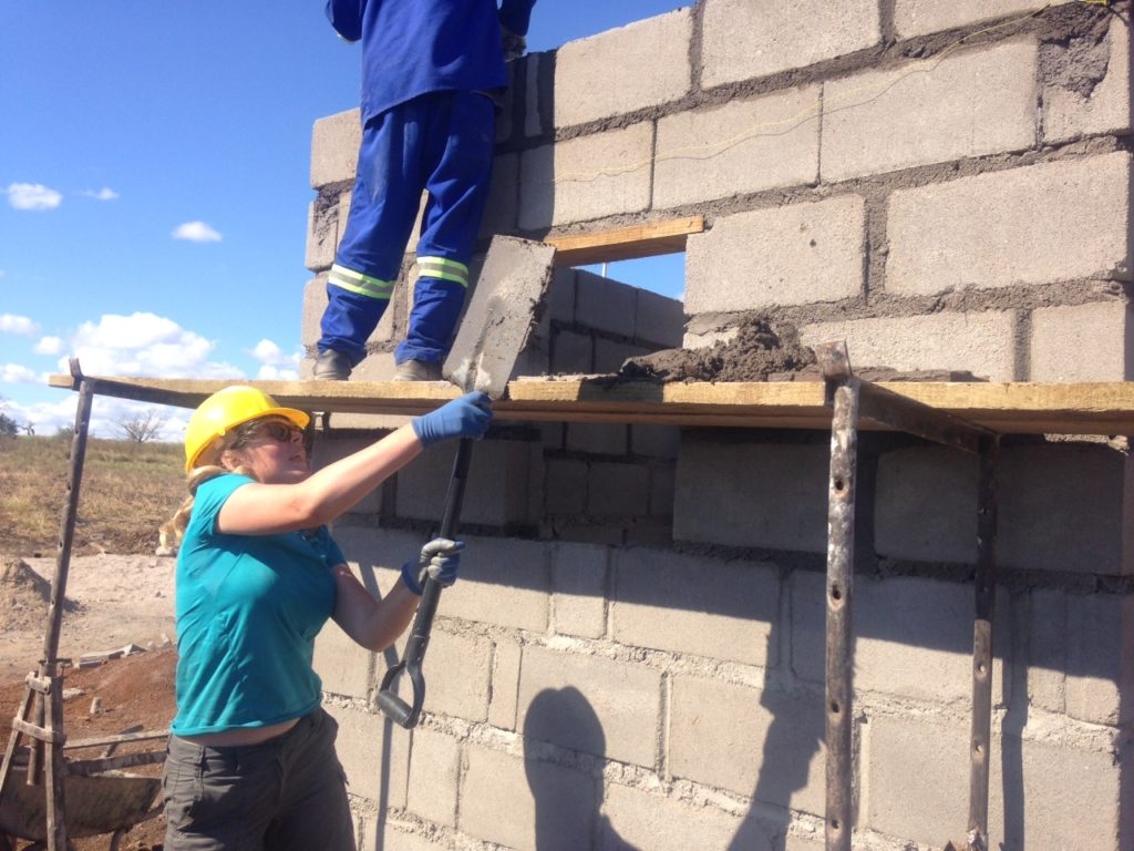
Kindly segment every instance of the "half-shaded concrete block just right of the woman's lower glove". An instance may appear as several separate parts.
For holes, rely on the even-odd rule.
[[[549,545],[465,537],[460,581],[441,598],[448,617],[544,633],[551,595]]]

